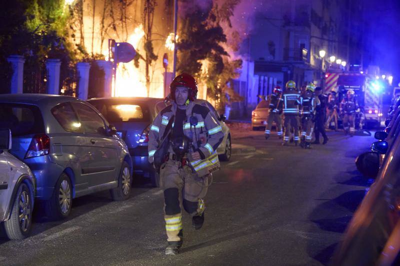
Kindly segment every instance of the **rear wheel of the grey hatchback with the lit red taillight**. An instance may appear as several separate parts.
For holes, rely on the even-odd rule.
[[[72,186],[67,174],[62,173],[55,184],[51,198],[46,202],[46,214],[50,219],[64,219],[72,206]]]

